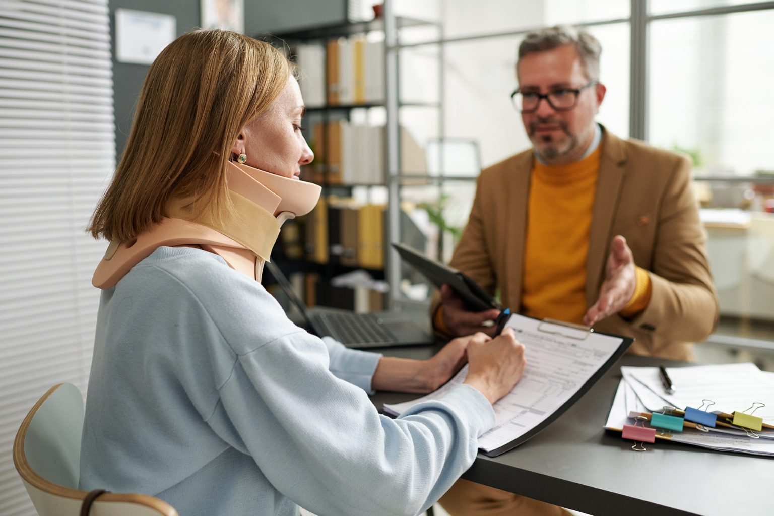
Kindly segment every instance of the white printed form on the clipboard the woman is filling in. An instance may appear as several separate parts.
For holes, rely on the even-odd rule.
[[[527,364],[521,381],[493,405],[495,427],[478,438],[478,447],[485,451],[518,439],[548,419],[622,343],[618,337],[571,330],[519,315],[511,316],[506,326],[513,328],[524,344]],[[412,402],[385,405],[385,412],[399,415],[417,403],[441,398],[466,375],[467,366],[437,391]]]

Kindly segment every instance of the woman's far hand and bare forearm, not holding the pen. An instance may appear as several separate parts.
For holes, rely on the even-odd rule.
[[[491,338],[484,333],[457,337],[426,361],[382,357],[376,366],[371,386],[378,391],[435,391],[467,362],[467,346],[473,340],[485,343]]]

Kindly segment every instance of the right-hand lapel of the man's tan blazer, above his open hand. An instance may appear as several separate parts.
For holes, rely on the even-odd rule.
[[[604,130],[602,152],[591,214],[591,231],[586,258],[587,306],[597,302],[599,287],[604,280],[604,268],[608,258],[613,218],[618,211],[621,187],[625,176],[626,153],[620,138]]]

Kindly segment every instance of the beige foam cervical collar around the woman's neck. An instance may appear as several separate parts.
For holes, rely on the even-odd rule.
[[[231,220],[221,222],[204,210],[193,212],[190,200],[173,200],[170,217],[143,231],[133,241],[111,242],[94,271],[92,285],[111,289],[139,261],[161,246],[199,246],[221,256],[231,268],[261,281],[263,264],[285,220],[309,213],[320,198],[320,186],[229,162]]]

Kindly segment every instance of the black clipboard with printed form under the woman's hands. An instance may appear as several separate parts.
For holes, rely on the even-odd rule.
[[[597,332],[587,326],[557,320],[540,320],[519,314],[507,316],[502,326],[512,328],[516,338],[525,343],[527,367],[522,380],[494,405],[495,414],[514,412],[515,415],[502,421],[498,418],[498,425],[478,439],[479,453],[490,457],[501,455],[526,443],[559,419],[602,378],[634,342],[630,337]],[[566,355],[562,356],[562,352],[566,352]],[[531,360],[530,354],[538,360]],[[555,357],[555,360],[543,361],[541,354]],[[549,370],[550,367],[564,367],[568,371],[576,368],[577,374]],[[463,371],[467,374],[467,366]],[[385,413],[399,415],[417,403],[443,397],[446,391],[464,381],[463,371],[430,395],[412,402],[384,405]],[[551,378],[551,374],[557,378]],[[531,393],[535,391],[519,391],[519,384],[522,382],[529,382],[531,388],[540,387],[542,383],[546,389],[540,392],[546,394],[541,396],[539,401],[532,400]],[[532,401],[524,403],[522,397]],[[531,410],[538,403],[544,412],[539,416]],[[519,410],[522,411],[521,414],[518,413]],[[510,422],[514,424],[510,425]]]

